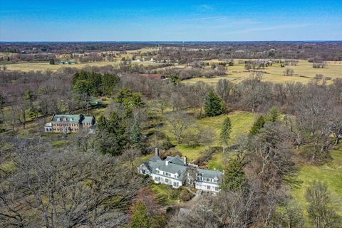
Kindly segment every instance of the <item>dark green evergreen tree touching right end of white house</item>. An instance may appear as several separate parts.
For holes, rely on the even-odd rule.
[[[229,162],[224,170],[224,180],[222,190],[237,191],[247,182],[247,177],[242,170],[243,164],[239,158],[234,158]]]

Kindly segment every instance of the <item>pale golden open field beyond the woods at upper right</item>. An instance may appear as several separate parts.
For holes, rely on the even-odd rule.
[[[218,61],[210,61],[211,63]],[[284,76],[285,68],[282,68],[279,63],[274,63],[272,66],[261,69],[264,71],[263,81],[271,81],[274,83],[286,83],[286,82],[301,82],[308,83],[313,80],[316,74],[323,74],[323,76],[331,78],[342,78],[342,62],[330,61],[327,62],[326,68],[313,68],[312,63],[306,60],[299,60],[297,66],[286,66],[285,68],[291,68],[294,70],[294,76]],[[215,78],[191,78],[183,81],[184,83],[196,83],[197,81],[204,81],[207,83],[217,83],[219,79],[226,78],[229,81],[238,83],[246,78],[250,77],[249,72],[244,69],[244,64],[239,64],[235,60],[234,66],[227,67],[227,76],[215,77]]]

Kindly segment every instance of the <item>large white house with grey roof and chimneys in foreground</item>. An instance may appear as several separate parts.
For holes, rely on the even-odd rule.
[[[199,169],[195,165],[187,164],[186,157],[168,156],[162,160],[157,148],[155,155],[138,167],[138,172],[149,175],[156,183],[175,188],[192,185],[207,192],[219,192],[219,185],[223,179],[223,172]]]

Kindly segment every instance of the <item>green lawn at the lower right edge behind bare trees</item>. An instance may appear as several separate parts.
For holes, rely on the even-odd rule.
[[[304,165],[299,169],[296,180],[301,184],[291,190],[291,195],[304,208],[304,211],[308,205],[305,199],[306,189],[311,182],[316,180],[328,184],[334,197],[333,201],[338,204],[338,212],[342,215],[342,150],[333,150],[331,155],[333,160],[325,165]]]

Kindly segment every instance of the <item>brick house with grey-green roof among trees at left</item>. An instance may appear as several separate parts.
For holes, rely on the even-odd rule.
[[[90,128],[95,124],[93,116],[53,115],[51,122],[44,126],[47,133],[75,133],[82,128]]]

